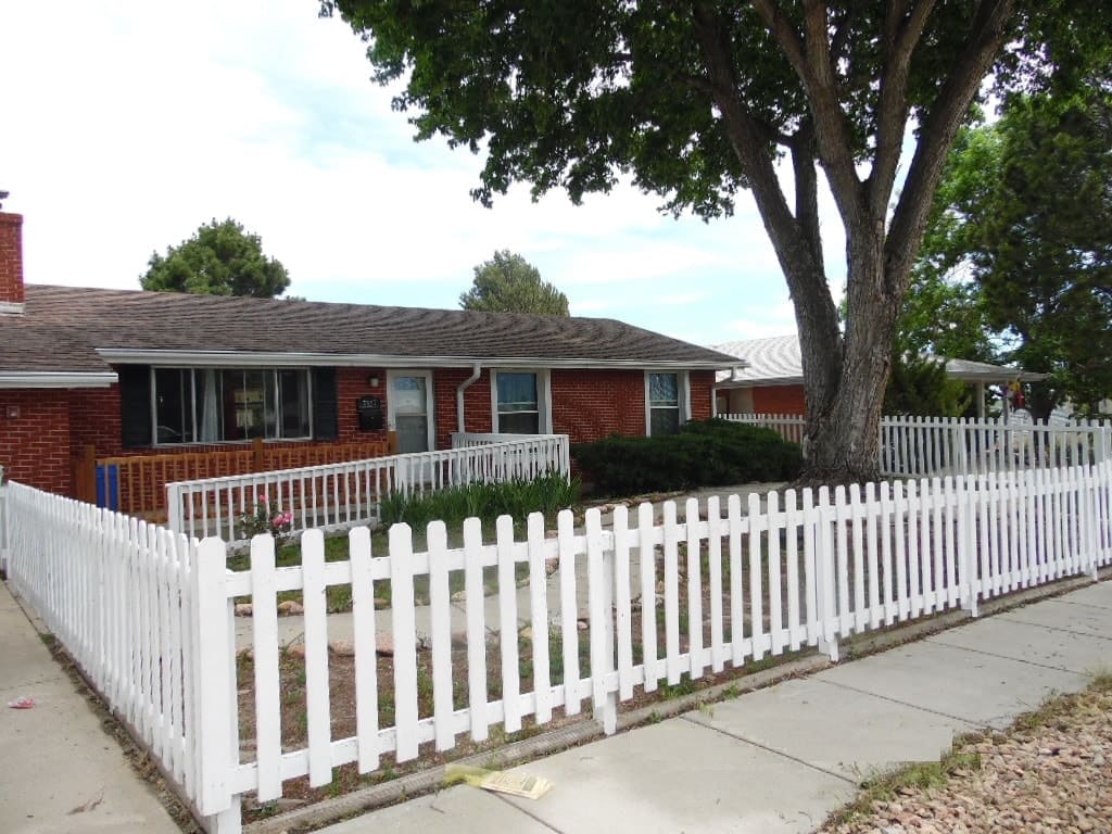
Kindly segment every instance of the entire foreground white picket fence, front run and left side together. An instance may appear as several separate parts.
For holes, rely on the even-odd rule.
[[[320,530],[301,537],[301,564],[275,567],[269,537],[251,543],[250,569],[226,569],[226,545],[193,539],[20,485],[8,489],[10,575],[135,732],[151,747],[210,831],[237,832],[240,797],[281,795],[308,775],[320,786],[332,768],[360,773],[384,756],[411,761],[467,735],[545,724],[589,704],[606,732],[618,703],[639,688],[739,667],[767,655],[818,646],[833,658],[851,635],[1076,575],[1112,564],[1112,463],[970,475],[817,492],[694,499],[677,518],[666,503],[597,509],[576,529],[558,517],[555,538],[539,515],[524,540],[508,518],[493,543],[479,522],[449,547],[443,523],[415,552],[406,525],[388,552],[371,552],[366,527],[348,534],[345,560],[325,562]],[[556,570],[549,576],[548,567]],[[520,569],[519,569],[520,568]],[[495,599],[486,596],[497,578]],[[524,586],[518,577],[524,574]],[[415,582],[427,583],[418,616]],[[391,606],[376,619],[375,583]],[[450,588],[463,587],[455,605]],[[349,586],[355,635],[356,729],[332,737],[326,589]],[[300,590],[304,605],[306,742],[285,748],[277,595]],[[237,679],[232,602],[254,603],[254,678]],[[383,613],[380,613],[383,614]],[[427,616],[424,616],[427,615]],[[454,617],[466,636],[466,703],[456,698]],[[586,632],[580,620],[586,619]],[[418,623],[427,622],[419,634]],[[532,641],[519,649],[519,627]],[[635,624],[636,627],[635,627]],[[658,625],[659,624],[659,625]],[[490,631],[497,634],[487,645]],[[380,681],[376,638],[394,642],[391,681]],[[580,649],[580,635],[586,646]],[[419,653],[428,637],[431,704],[421,701]],[[552,645],[558,657],[549,656]],[[488,689],[488,653],[500,695]],[[522,664],[532,669],[523,686]],[[558,671],[557,671],[558,669]],[[459,682],[463,684],[463,681]],[[241,757],[240,688],[254,689],[254,754]],[[380,721],[389,688],[394,721]],[[427,688],[427,687],[426,687]],[[338,705],[340,709],[350,705]]]

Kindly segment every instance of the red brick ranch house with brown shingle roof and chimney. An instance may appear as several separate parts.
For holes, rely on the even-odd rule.
[[[451,434],[674,431],[733,357],[612,319],[23,284],[0,214],[0,465],[71,489],[71,457],[255,437],[450,447]]]

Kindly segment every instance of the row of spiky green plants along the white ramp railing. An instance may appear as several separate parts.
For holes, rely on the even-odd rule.
[[[384,525],[405,522],[410,527],[423,528],[429,522],[441,520],[453,526],[471,517],[487,522],[503,515],[522,522],[530,513],[552,517],[578,498],[578,478],[549,473],[533,480],[466,484],[425,495],[391,493],[383,498],[379,507]]]

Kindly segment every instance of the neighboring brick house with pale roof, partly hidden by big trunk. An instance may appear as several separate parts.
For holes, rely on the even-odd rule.
[[[715,384],[716,414],[805,413],[803,398],[803,359],[797,336],[727,341],[713,350],[745,360],[745,367],[719,373]],[[976,388],[979,416],[984,417],[984,387],[1007,385],[1016,379],[1033,381],[1042,374],[1005,368],[967,359],[945,359],[946,374]]]

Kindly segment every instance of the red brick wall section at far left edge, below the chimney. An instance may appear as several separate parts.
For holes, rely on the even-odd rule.
[[[70,492],[69,391],[0,389],[0,465],[13,480]]]

